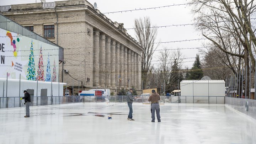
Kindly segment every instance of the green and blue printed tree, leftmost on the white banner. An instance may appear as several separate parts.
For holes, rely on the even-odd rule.
[[[36,80],[36,68],[34,64],[34,52],[33,52],[33,40],[31,41],[30,46],[30,56],[28,61],[28,69],[27,69],[27,80]]]

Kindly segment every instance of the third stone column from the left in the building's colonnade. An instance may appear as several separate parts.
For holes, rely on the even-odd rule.
[[[110,81],[110,78],[111,78],[111,75],[110,75],[110,66],[111,66],[110,65],[110,63],[111,63],[110,41],[111,41],[111,38],[109,36],[106,36],[106,59],[105,59],[105,62],[106,62],[106,65],[105,65],[105,84],[106,84],[106,87],[111,86],[111,81]]]

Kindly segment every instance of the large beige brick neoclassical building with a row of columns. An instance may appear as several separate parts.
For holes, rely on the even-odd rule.
[[[5,15],[64,48],[59,79],[79,90],[141,91],[143,48],[86,0],[1,6]]]

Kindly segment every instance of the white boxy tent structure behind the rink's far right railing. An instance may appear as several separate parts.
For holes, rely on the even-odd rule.
[[[225,103],[224,80],[182,80],[181,103]]]

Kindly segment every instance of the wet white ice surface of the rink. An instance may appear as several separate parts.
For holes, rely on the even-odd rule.
[[[0,109],[0,144],[256,143],[256,121],[224,105],[165,103],[161,122],[151,122],[150,105],[133,103],[135,121],[127,121],[127,104],[113,104],[34,106],[30,118],[23,107]]]

